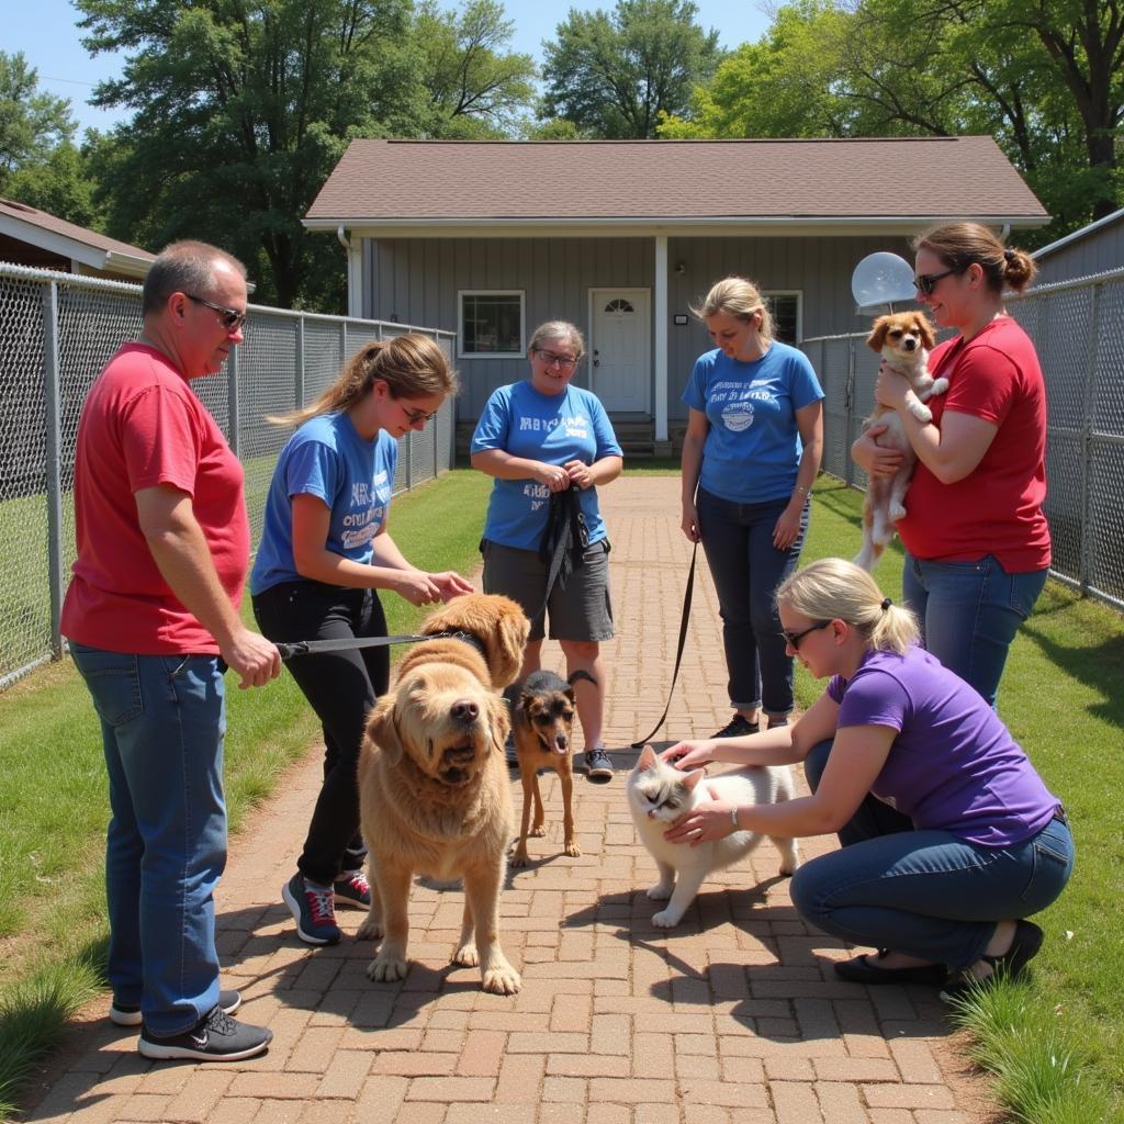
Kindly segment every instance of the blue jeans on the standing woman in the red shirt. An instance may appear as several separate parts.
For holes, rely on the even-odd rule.
[[[901,596],[925,647],[994,707],[1010,642],[1045,583],[1045,570],[1007,573],[991,554],[926,562],[907,553]]]

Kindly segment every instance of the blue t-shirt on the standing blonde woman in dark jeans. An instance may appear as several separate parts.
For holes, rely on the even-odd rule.
[[[796,411],[823,397],[807,355],[788,344],[751,363],[720,348],[700,355],[682,395],[710,423],[699,486],[732,504],[788,499],[804,448]]]

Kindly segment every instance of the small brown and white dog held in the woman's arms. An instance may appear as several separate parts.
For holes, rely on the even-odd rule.
[[[887,366],[904,375],[912,388],[906,408],[923,423],[933,420],[925,405],[933,395],[949,389],[948,379],[933,379],[928,373],[928,353],[936,344],[933,325],[923,312],[892,312],[874,320],[867,346],[882,356]],[[855,565],[873,570],[882,551],[894,537],[894,525],[906,514],[905,498],[909,489],[917,454],[909,444],[897,410],[877,404],[867,419],[867,428],[883,425],[886,432],[876,439],[883,448],[898,448],[905,455],[901,466],[891,477],[872,475],[867,487],[862,509],[862,550]]]

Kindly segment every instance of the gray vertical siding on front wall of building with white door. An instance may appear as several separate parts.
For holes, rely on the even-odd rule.
[[[906,241],[898,237],[669,238],[669,312],[688,312],[714,281],[741,273],[765,290],[799,291],[805,336],[861,332],[870,317],[855,312],[851,272],[867,254],[886,250],[909,257]],[[681,274],[674,272],[678,262],[685,266]],[[460,290],[523,289],[528,334],[547,319],[571,320],[588,332],[591,288],[654,290],[655,247],[649,237],[384,238],[365,241],[363,269],[362,315],[373,319],[456,332]],[[679,398],[695,360],[710,343],[694,317],[668,332],[668,417],[674,425],[686,419]],[[496,387],[527,373],[522,357],[462,357],[456,363],[462,420],[479,417]],[[588,387],[588,365],[574,379]]]

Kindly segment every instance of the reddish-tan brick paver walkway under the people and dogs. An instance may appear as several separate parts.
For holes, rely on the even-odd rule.
[[[607,741],[622,768],[651,728],[671,676],[690,549],[679,482],[605,489],[619,638],[606,645]],[[727,718],[718,613],[705,564],[665,736],[704,736]],[[546,645],[560,668],[556,645]],[[659,744],[669,744],[662,742]],[[561,851],[561,804],[546,783],[547,836],[501,899],[504,946],[523,972],[511,998],[451,968],[459,890],[417,885],[413,964],[398,985],[368,981],[361,914],[345,939],[309,949],[280,888],[293,869],[320,776],[318,753],[234,842],[218,894],[224,985],[244,1016],[273,1028],[244,1063],[146,1062],[135,1032],[105,1018],[69,1035],[29,1120],[275,1124],[970,1124],[979,1085],[948,1048],[932,989],[837,981],[836,942],[791,907],[764,844],[710,879],[671,933],[644,896],[654,864],[638,844],[624,778],[575,785],[582,856]],[[545,778],[544,778],[545,779]],[[516,788],[516,814],[522,794]],[[803,844],[805,858],[834,845]]]

